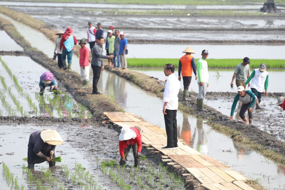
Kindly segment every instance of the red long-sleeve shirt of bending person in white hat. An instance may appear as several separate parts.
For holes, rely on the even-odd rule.
[[[141,150],[142,150],[142,136],[140,134],[140,130],[138,128],[135,127],[130,127],[131,130],[134,130],[137,134],[136,138],[131,138],[130,140],[119,140],[119,148],[120,148],[120,155],[121,158],[124,159],[125,158],[125,153],[124,153],[124,148],[127,148],[128,145],[134,145],[137,143],[138,145],[138,152],[141,154]]]

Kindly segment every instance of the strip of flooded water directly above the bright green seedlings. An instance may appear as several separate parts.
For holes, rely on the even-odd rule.
[[[128,44],[128,58],[180,58],[187,45],[170,44]],[[191,48],[200,55],[202,50],[209,51],[209,59],[285,59],[285,46],[263,45],[195,45]],[[159,50],[159,51],[158,51]],[[231,53],[226,53],[231,50]]]

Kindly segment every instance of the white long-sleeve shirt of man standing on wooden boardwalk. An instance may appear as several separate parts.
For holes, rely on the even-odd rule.
[[[164,106],[165,102],[168,102],[166,105],[166,109],[177,110],[179,90],[179,80],[175,77],[174,74],[169,75],[164,87],[162,107]]]

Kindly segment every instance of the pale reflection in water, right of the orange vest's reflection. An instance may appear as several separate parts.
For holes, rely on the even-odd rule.
[[[208,153],[208,141],[205,135],[205,131],[203,129],[203,119],[197,118],[197,132],[198,132],[198,147],[197,150],[201,152],[202,154]]]

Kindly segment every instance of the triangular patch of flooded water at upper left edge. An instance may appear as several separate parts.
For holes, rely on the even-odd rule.
[[[23,48],[19,46],[4,30],[0,30],[1,46],[0,51],[23,51]]]

